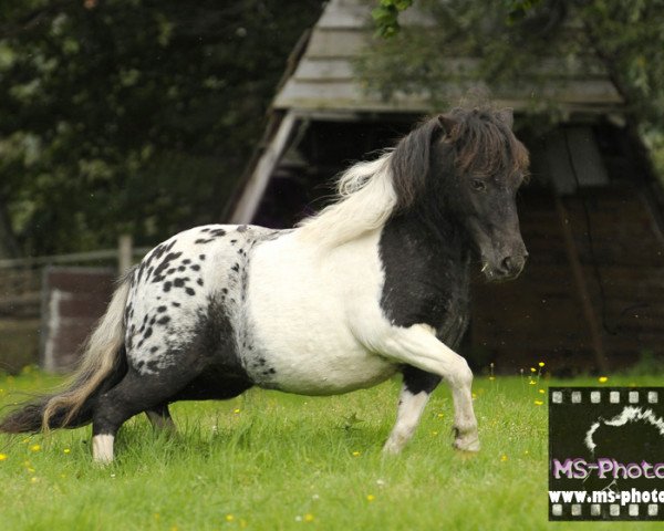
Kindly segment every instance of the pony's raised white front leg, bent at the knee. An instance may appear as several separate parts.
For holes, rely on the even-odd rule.
[[[442,343],[434,329],[424,324],[407,329],[394,326],[381,343],[381,351],[390,358],[442,376],[447,382],[454,399],[454,447],[478,451],[479,437],[470,391],[473,372],[466,360]],[[424,404],[418,407],[419,414]],[[411,407],[417,409],[415,405]]]

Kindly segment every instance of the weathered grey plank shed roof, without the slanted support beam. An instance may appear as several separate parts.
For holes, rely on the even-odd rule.
[[[280,87],[276,110],[295,110],[301,114],[317,112],[388,112],[427,113],[426,94],[400,94],[390,101],[370,93],[354,72],[354,61],[372,45],[373,28],[367,0],[331,0],[312,29],[292,74]],[[432,25],[423,12],[411,8],[402,13],[403,25]],[[571,22],[573,24],[573,21]],[[448,66],[463,69],[476,58],[449,58]],[[533,98],[553,100],[563,111],[602,114],[620,111],[622,97],[602,65],[587,62],[542,58],[540,69],[551,80],[543,87],[528,85],[500,91],[492,87],[498,104],[525,108]],[[450,83],[445,94],[461,96],[465,88]]]

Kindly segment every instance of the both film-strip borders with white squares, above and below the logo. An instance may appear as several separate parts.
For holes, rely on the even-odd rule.
[[[603,407],[631,406],[642,410],[651,409],[660,418],[664,418],[664,387],[550,387],[549,413],[557,406],[575,409],[577,406],[601,410]],[[551,445],[551,441],[550,441]],[[664,452],[663,452],[664,457]],[[664,459],[663,459],[664,460]],[[664,481],[658,491],[664,490]],[[552,487],[558,490],[558,487]],[[664,503],[651,499],[641,503],[616,502],[549,502],[549,520],[551,521],[664,521]]]

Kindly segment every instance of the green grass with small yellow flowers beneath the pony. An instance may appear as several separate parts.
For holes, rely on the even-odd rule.
[[[0,377],[13,392],[58,382]],[[539,530],[655,529],[656,523],[547,521],[548,385],[596,378],[477,377],[481,451],[452,449],[452,399],[439,387],[409,446],[383,458],[398,382],[312,398],[251,391],[229,402],[173,406],[179,434],[128,421],[116,461],[93,465],[90,428],[0,436],[2,530]],[[611,377],[605,385],[657,385]],[[360,421],[356,421],[360,419]]]

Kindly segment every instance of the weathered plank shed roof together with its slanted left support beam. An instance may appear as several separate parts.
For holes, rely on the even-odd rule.
[[[330,0],[320,20],[298,43],[272,102],[270,124],[228,204],[226,220],[243,223],[253,219],[283,154],[301,139],[309,119],[352,122],[366,115],[413,117],[437,111],[425,93],[397,94],[385,100],[382,94],[370,92],[355,73],[355,61],[374,39],[373,6],[373,0]],[[434,25],[429,15],[415,8],[403,12],[400,20],[406,27]],[[573,20],[567,24],[567,31],[582,31]],[[447,65],[468,71],[477,61],[449,56]],[[536,74],[551,83],[509,90],[491,87],[494,103],[518,112],[530,108],[533,100],[553,101],[561,112],[591,119],[622,112],[623,100],[599,61],[542,58]],[[448,98],[460,98],[466,86],[450,82],[440,90]]]

